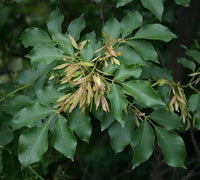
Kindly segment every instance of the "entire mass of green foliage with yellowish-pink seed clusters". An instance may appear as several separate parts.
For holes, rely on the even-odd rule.
[[[118,0],[117,7],[128,3]],[[132,169],[149,160],[157,145],[167,165],[186,168],[180,132],[200,129],[200,49],[183,47],[187,58],[178,62],[192,72],[186,84],[174,82],[154,47],[177,38],[161,23],[163,3],[141,0],[159,22],[143,22],[139,11],[129,11],[121,20],[108,19],[102,36],[85,33],[83,14],[63,31],[59,8],[47,20],[48,32],[27,28],[20,39],[30,50],[25,57],[31,68],[17,75],[15,90],[2,86],[1,154],[17,144],[14,158],[42,179],[32,167],[55,150],[76,162],[76,149],[91,141],[98,119],[115,153],[132,149]]]

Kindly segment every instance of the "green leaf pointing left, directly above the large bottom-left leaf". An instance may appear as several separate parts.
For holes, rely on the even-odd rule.
[[[23,126],[31,127],[36,121],[44,119],[52,112],[54,112],[53,109],[36,102],[19,111],[13,117],[12,126],[15,129]]]

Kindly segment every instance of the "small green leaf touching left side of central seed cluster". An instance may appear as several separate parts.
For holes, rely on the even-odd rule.
[[[64,93],[58,92],[56,87],[50,85],[45,89],[40,89],[36,92],[37,99],[42,104],[56,103],[58,98],[63,96]]]

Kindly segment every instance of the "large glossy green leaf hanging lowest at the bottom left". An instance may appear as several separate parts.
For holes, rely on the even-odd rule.
[[[24,167],[40,161],[47,149],[48,123],[44,127],[27,129],[19,137],[18,157]]]

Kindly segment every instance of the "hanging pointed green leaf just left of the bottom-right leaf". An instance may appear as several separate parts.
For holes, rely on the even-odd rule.
[[[142,121],[134,133],[131,147],[134,151],[132,169],[149,159],[154,150],[155,135],[147,120]]]

